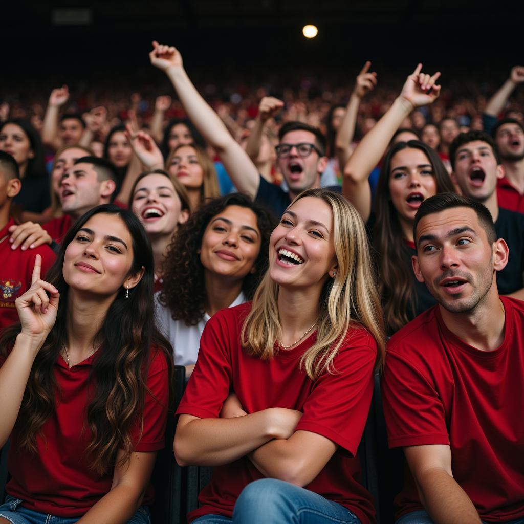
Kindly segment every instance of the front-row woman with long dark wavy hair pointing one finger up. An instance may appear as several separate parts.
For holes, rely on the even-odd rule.
[[[149,523],[172,350],[157,331],[144,228],[114,205],[85,213],[56,263],[16,300],[0,340],[0,522]]]

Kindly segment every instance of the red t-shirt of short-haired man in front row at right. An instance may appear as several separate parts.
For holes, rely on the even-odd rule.
[[[485,522],[524,517],[524,302],[500,297],[504,341],[480,351],[439,306],[391,337],[382,398],[390,447],[448,444],[453,477]],[[422,509],[411,475],[397,518]]]

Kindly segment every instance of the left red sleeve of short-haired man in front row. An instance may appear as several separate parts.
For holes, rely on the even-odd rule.
[[[388,350],[381,393],[389,447],[450,443],[439,394],[413,359]]]

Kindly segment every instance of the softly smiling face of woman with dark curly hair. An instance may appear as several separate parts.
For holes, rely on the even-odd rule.
[[[200,261],[205,272],[242,280],[255,271],[260,252],[260,230],[255,213],[230,205],[215,215],[205,228]]]

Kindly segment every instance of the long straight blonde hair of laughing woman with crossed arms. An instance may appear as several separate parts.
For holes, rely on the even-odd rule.
[[[330,278],[322,290],[316,342],[304,353],[300,365],[312,380],[322,373],[333,373],[333,359],[348,330],[358,326],[376,340],[376,364],[381,368],[386,353],[384,320],[362,219],[342,195],[326,189],[303,191],[288,209],[305,196],[319,198],[331,208],[339,267],[336,277]],[[275,343],[282,338],[277,298],[278,284],[267,271],[255,293],[241,335],[242,346],[248,354],[263,360],[275,355]]]

